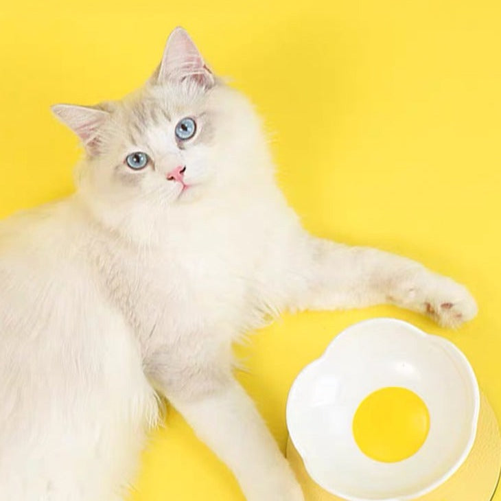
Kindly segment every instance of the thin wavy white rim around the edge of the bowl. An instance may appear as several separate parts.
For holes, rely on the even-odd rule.
[[[424,487],[423,489],[416,491],[414,493],[406,494],[405,496],[399,496],[398,498],[358,498],[358,497],[353,497],[350,494],[344,493],[342,491],[338,491],[337,489],[328,489],[324,485],[322,485],[322,482],[316,477],[314,474],[314,471],[312,471],[311,465],[308,464],[306,454],[304,453],[304,450],[301,450],[301,446],[299,446],[296,441],[294,441],[294,437],[292,430],[290,430],[289,427],[289,417],[292,415],[292,398],[294,397],[294,394],[297,391],[298,387],[298,380],[305,373],[307,370],[311,370],[313,367],[322,364],[325,359],[328,358],[329,353],[332,349],[335,349],[336,342],[340,340],[340,338],[345,338],[347,336],[351,335],[351,331],[355,329],[355,327],[360,327],[365,324],[374,324],[374,323],[391,323],[393,325],[400,325],[408,329],[409,331],[412,332],[412,334],[417,334],[421,338],[430,338],[432,342],[436,342],[439,345],[442,345],[446,350],[454,352],[454,354],[461,360],[461,363],[463,364],[463,367],[465,369],[465,374],[468,375],[468,380],[471,384],[471,389],[473,391],[473,397],[474,397],[474,412],[473,412],[473,419],[471,420],[471,427],[470,427],[470,434],[469,434],[469,440],[467,442],[467,445],[465,449],[463,450],[462,454],[460,454],[455,461],[454,465],[448,469],[445,474],[443,474],[440,478],[437,478],[434,482],[430,483],[427,487]],[[290,436],[290,440],[292,441],[294,447],[296,448],[299,456],[301,456],[301,459],[303,460],[303,463],[305,465],[305,469],[307,471],[307,474],[310,475],[310,477],[316,482],[322,489],[325,489],[325,491],[334,494],[334,496],[338,496],[340,498],[343,498],[345,501],[412,501],[416,500],[417,498],[420,498],[421,496],[425,496],[426,494],[430,493],[440,485],[442,485],[444,482],[449,480],[452,475],[458,471],[458,469],[463,465],[463,463],[466,461],[466,458],[469,456],[469,453],[471,452],[471,449],[473,448],[473,445],[476,440],[476,434],[477,434],[477,429],[478,429],[478,418],[480,416],[480,388],[478,386],[478,380],[476,378],[475,372],[473,367],[471,366],[469,360],[456,345],[454,345],[453,342],[450,340],[443,338],[442,336],[437,336],[436,334],[428,334],[427,332],[419,329],[419,327],[416,327],[415,325],[412,325],[411,323],[408,323],[406,321],[400,320],[399,318],[391,318],[391,317],[375,317],[375,318],[368,318],[366,320],[356,322],[354,324],[349,325],[345,329],[343,329],[331,342],[329,342],[329,345],[327,345],[327,348],[325,351],[323,351],[322,355],[315,360],[312,360],[309,364],[303,367],[301,371],[296,375],[294,378],[294,382],[292,382],[292,385],[290,387],[289,393],[288,393],[288,398],[287,398],[287,404],[286,404],[286,423],[287,423],[287,428],[288,428],[288,433]]]

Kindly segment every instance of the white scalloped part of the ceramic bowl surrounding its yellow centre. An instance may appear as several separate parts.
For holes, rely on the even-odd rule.
[[[359,449],[352,423],[367,395],[392,386],[423,400],[430,430],[413,456],[382,463]],[[476,377],[461,351],[406,322],[375,318],[343,331],[301,371],[287,423],[308,474],[323,489],[349,501],[404,501],[432,491],[461,466],[479,412]]]

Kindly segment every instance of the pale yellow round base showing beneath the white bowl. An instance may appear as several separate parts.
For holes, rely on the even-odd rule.
[[[301,482],[306,501],[343,501],[316,484],[307,474],[301,456],[292,441],[287,444],[287,457]],[[467,460],[447,482],[415,501],[491,501],[501,469],[501,437],[498,420],[482,393],[478,433]]]

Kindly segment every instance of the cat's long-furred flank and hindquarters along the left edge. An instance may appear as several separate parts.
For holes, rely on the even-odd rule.
[[[122,499],[117,487],[135,473],[158,412],[139,343],[106,303],[73,201],[13,218],[20,237],[5,238],[9,223],[0,225],[0,498]]]

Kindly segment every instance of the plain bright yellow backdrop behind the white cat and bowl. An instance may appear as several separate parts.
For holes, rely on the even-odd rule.
[[[77,142],[49,105],[135,89],[178,24],[266,117],[280,183],[308,229],[419,259],[480,305],[458,331],[374,307],[285,316],[257,333],[237,350],[250,369],[240,379],[281,447],[295,375],[374,316],[456,342],[501,416],[501,3],[3,1],[1,217],[72,190]],[[166,422],[133,499],[242,500],[176,412]]]

